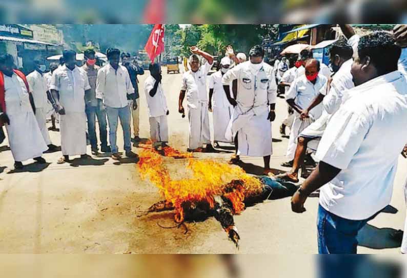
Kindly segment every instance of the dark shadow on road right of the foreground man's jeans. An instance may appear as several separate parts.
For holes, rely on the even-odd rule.
[[[357,240],[360,246],[372,249],[397,248],[401,246],[401,241],[391,236],[395,231],[393,228],[377,228],[367,224],[359,231]]]

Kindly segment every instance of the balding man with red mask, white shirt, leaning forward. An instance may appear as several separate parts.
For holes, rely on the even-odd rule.
[[[306,74],[299,76],[291,84],[286,94],[287,103],[294,109],[294,122],[290,130],[290,139],[287,147],[287,157],[289,162],[282,166],[292,166],[295,149],[297,147],[298,135],[302,130],[315,122],[322,113],[322,105],[311,107],[312,101],[319,94],[323,86],[328,82],[327,77],[319,74],[320,63],[316,59],[308,59],[306,64]],[[304,111],[310,110],[308,114]],[[302,116],[301,116],[302,114]],[[291,165],[290,165],[291,164]]]

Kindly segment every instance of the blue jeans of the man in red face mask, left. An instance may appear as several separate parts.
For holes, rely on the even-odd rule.
[[[99,136],[100,146],[108,146],[108,131],[106,121],[106,111],[100,111],[97,106],[86,106],[86,117],[88,118],[88,133],[89,141],[92,146],[92,150],[97,150],[97,137],[96,137],[96,116],[99,123]]]

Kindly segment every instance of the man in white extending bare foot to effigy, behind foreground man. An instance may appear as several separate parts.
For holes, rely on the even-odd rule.
[[[335,90],[344,91],[355,87],[353,85],[351,75],[351,65],[353,62],[352,54],[352,47],[344,40],[336,41],[332,45],[330,49],[330,58],[335,71],[335,75],[333,76],[331,82],[332,87],[328,88],[328,83],[325,83],[325,86],[322,87],[319,94],[314,98],[310,106],[302,112],[301,115],[303,117],[306,117],[313,107],[319,105],[324,100],[328,89],[330,89],[328,95],[332,95],[336,93],[334,92]],[[337,103],[337,105],[339,106],[340,103]],[[304,163],[304,156],[306,155],[307,148],[310,148],[313,151],[317,150],[319,140],[326,128],[329,117],[330,114],[327,112],[325,107],[323,107],[322,114],[318,120],[309,125],[298,135],[292,169],[286,173],[278,175],[278,178],[294,183],[298,182],[298,171]]]

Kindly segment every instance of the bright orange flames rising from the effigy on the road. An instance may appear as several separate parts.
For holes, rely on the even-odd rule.
[[[165,200],[174,205],[177,223],[184,221],[185,213],[181,205],[186,201],[206,201],[214,207],[213,197],[223,195],[232,203],[234,213],[238,214],[245,209],[245,196],[258,194],[262,190],[261,182],[240,167],[213,160],[197,160],[190,153],[183,154],[170,147],[165,147],[164,153],[171,157],[188,157],[186,167],[192,172],[192,177],[173,180],[162,156],[153,148],[139,153],[138,169],[141,178],[148,178]],[[241,182],[233,184],[232,181],[236,180]]]

